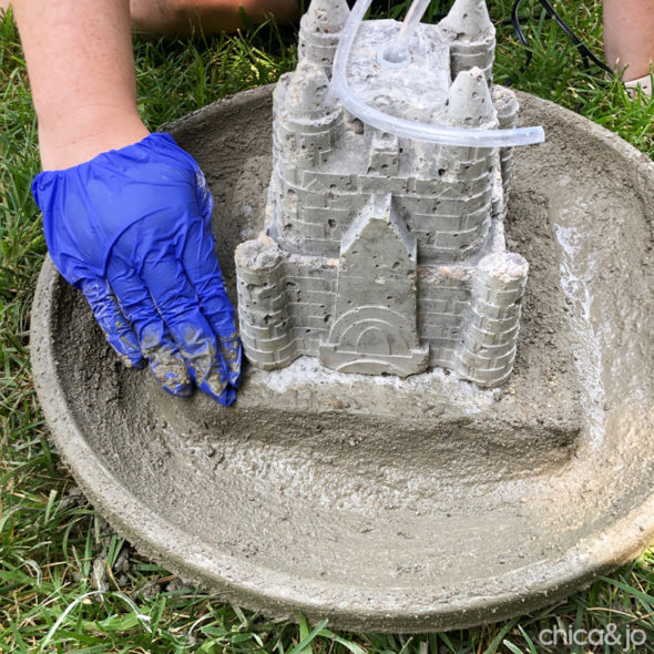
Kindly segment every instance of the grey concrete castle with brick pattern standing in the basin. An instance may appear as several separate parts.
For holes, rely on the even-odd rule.
[[[340,371],[443,366],[497,386],[512,370],[528,272],[504,247],[512,151],[416,142],[349,115],[329,85],[347,11],[314,0],[299,64],[275,91],[266,226],[236,251],[245,352],[264,369],[309,355]],[[397,30],[362,23],[348,64],[357,96],[420,122],[515,125],[514,94],[491,93],[483,0],[421,24],[410,68],[379,64]]]

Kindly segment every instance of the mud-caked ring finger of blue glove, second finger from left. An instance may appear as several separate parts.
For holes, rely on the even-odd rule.
[[[133,268],[111,263],[108,276],[121,308],[134,327],[150,369],[164,390],[188,397],[193,385],[184,358],[156,311],[143,280]]]

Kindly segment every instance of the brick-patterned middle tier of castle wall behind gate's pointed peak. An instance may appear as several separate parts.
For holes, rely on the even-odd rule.
[[[457,149],[450,149],[457,150]],[[381,177],[293,168],[280,163],[273,183],[277,231],[292,252],[338,256],[349,223],[375,193],[392,193],[409,229],[427,259],[456,262],[473,255],[488,235],[492,198],[490,154],[464,160],[462,180],[441,153],[442,175],[436,180]],[[478,172],[479,175],[474,176]]]

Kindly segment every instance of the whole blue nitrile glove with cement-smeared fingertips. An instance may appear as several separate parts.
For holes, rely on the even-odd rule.
[[[236,397],[241,341],[211,234],[213,198],[170,134],[34,178],[50,256],[126,365],[171,394]]]

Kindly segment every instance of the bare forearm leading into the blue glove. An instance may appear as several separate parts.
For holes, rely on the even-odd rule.
[[[147,134],[136,111],[129,0],[14,0],[44,168]]]

